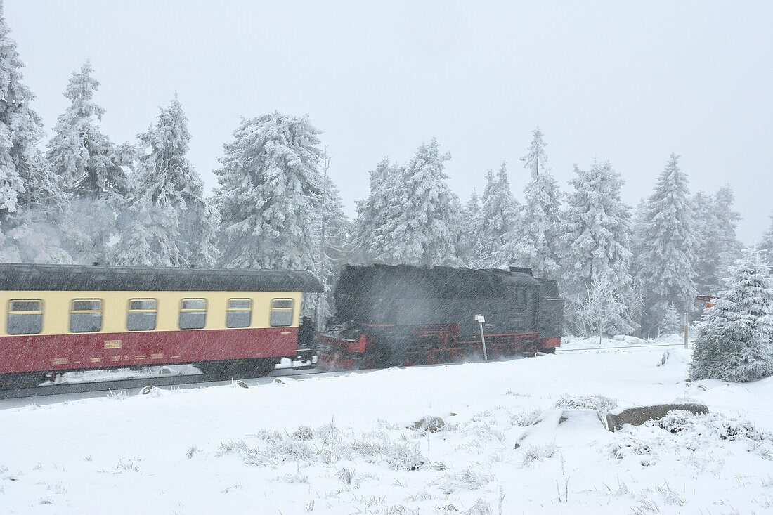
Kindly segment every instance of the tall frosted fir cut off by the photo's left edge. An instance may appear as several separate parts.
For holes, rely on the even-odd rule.
[[[0,3],[0,217],[15,212],[26,179],[44,168],[36,147],[43,122],[29,105],[35,95],[22,84],[24,63],[10,32]]]

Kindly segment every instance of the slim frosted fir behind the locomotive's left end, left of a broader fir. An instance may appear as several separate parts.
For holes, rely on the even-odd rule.
[[[369,172],[369,195],[367,199],[356,202],[357,217],[352,224],[350,246],[353,257],[360,263],[386,263],[390,260],[387,254],[390,234],[386,232],[386,220],[394,202],[399,174],[399,167],[396,163],[391,164],[388,157]]]

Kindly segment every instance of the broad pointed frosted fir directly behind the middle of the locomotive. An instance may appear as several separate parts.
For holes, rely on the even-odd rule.
[[[399,180],[388,194],[389,213],[384,227],[387,263],[461,264],[455,255],[461,230],[461,202],[448,187],[444,162],[435,138],[422,143],[414,158],[400,169]]]

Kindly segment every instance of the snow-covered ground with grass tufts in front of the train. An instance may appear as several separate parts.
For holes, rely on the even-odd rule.
[[[771,513],[773,378],[689,384],[690,351],[668,351],[662,366],[663,348],[632,346],[0,409],[0,511]],[[530,426],[556,404],[669,401],[712,414]],[[444,427],[407,428],[427,415]]]

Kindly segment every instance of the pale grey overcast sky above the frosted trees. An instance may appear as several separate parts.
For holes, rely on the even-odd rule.
[[[5,0],[34,107],[53,128],[90,59],[102,127],[135,141],[175,91],[206,184],[240,117],[308,114],[346,210],[385,155],[436,137],[466,200],[537,125],[561,186],[610,160],[625,200],[669,152],[691,188],[730,185],[758,239],[773,213],[773,2],[91,2]]]

